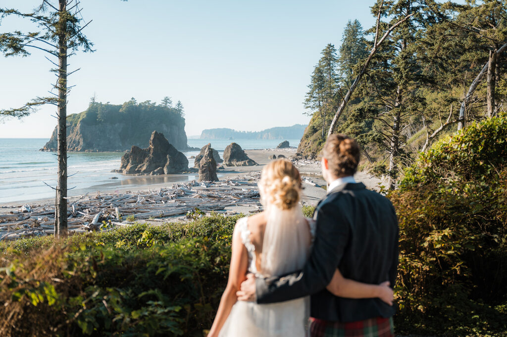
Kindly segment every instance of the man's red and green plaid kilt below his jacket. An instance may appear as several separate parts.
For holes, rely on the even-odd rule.
[[[310,317],[311,337],[394,337],[392,317],[340,323]]]

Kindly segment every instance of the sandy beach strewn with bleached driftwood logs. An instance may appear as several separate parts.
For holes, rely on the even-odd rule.
[[[193,178],[196,174],[130,176],[69,197],[69,231],[95,230],[103,221],[113,225],[138,221],[163,223],[192,219],[195,212],[199,216],[210,212],[224,215],[259,212],[262,205],[257,184],[273,154],[285,156],[299,168],[303,180],[302,205],[315,206],[327,193],[320,176],[320,162],[295,160],[296,148],[245,152],[258,165],[220,166],[219,182],[198,183]],[[366,173],[356,174],[356,180],[370,189],[375,189],[379,183],[379,179]],[[128,187],[122,187],[125,181]],[[3,221],[0,239],[51,234],[53,212],[54,199],[50,198],[0,204],[0,222]]]

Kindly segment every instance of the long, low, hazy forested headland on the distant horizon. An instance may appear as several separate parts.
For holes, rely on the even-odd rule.
[[[206,129],[201,139],[301,139],[306,125],[271,128],[263,131],[236,131],[232,129]]]

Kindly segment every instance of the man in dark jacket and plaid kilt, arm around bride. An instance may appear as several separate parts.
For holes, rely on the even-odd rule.
[[[345,299],[325,289],[338,268],[343,277],[365,283],[386,279],[394,286],[398,225],[394,207],[382,195],[356,183],[359,145],[332,135],[324,145],[322,175],[328,195],[315,209],[317,230],[303,270],[283,277],[248,275],[238,299],[259,304],[311,295],[310,331],[320,336],[393,336],[394,308],[380,299]]]

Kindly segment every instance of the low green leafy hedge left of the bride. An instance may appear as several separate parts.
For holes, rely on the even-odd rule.
[[[202,335],[238,218],[3,243],[0,335]]]

